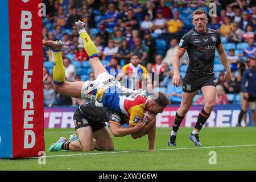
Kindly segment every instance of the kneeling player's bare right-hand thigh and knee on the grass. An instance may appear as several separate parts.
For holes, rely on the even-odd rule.
[[[103,123],[101,123],[101,125],[102,124]],[[104,151],[114,150],[114,142],[109,133],[109,129],[106,125],[102,127],[100,130],[94,131],[93,138],[94,138],[93,142],[94,142],[95,150],[104,150]]]

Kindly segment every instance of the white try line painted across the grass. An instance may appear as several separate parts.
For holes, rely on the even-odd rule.
[[[172,151],[172,150],[195,150],[195,149],[207,149],[207,148],[230,148],[230,147],[252,147],[256,146],[256,144],[243,144],[237,146],[209,146],[209,147],[183,147],[183,148],[164,148],[157,149],[155,151]],[[131,151],[113,151],[113,152],[93,152],[93,153],[84,153],[84,154],[67,154],[67,155],[47,155],[34,157],[35,158],[59,158],[59,157],[68,157],[68,156],[79,156],[79,155],[99,155],[99,154],[122,154],[122,153],[132,153],[132,152],[148,152],[147,150],[131,150]]]

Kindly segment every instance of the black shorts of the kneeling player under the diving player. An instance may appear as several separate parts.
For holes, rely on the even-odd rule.
[[[77,109],[74,113],[74,123],[75,123],[75,130],[80,129],[81,127],[92,127],[92,132],[98,131],[106,126],[105,122],[101,121],[93,121],[88,119],[86,115],[81,113],[80,109]]]

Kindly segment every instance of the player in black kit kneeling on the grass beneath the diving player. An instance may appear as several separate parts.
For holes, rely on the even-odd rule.
[[[134,139],[148,134],[148,151],[154,151],[155,143],[155,118],[146,125],[139,121],[134,127],[121,127],[129,119],[125,115],[114,113],[108,107],[97,107],[94,101],[82,104],[74,113],[75,130],[85,127],[86,132],[79,133],[79,137],[71,135],[69,141],[61,137],[49,147],[49,151],[112,151],[114,143],[105,122],[109,122],[110,130],[114,137],[123,137],[131,134]],[[146,125],[146,126],[145,126]]]

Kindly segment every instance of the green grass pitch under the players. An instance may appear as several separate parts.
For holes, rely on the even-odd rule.
[[[60,137],[73,129],[46,129],[46,164],[38,159],[1,159],[0,170],[256,170],[256,127],[204,128],[202,147],[188,140],[190,128],[180,128],[176,147],[168,147],[170,129],[156,130],[155,152],[147,151],[147,136],[141,139],[114,137],[114,152],[48,152]],[[215,151],[217,164],[209,164]],[[64,156],[67,155],[67,156]]]

